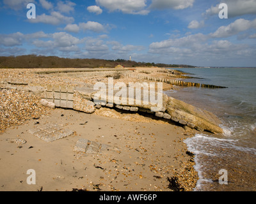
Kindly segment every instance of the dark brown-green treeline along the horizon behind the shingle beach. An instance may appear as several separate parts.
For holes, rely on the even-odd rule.
[[[0,68],[115,68],[118,64],[134,68],[138,66],[150,67],[157,66],[161,68],[193,68],[194,66],[184,64],[162,64],[150,62],[135,62],[124,59],[104,60],[104,59],[69,59],[56,56],[0,56]]]

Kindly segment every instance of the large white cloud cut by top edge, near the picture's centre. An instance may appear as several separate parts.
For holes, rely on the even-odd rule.
[[[96,0],[100,6],[107,8],[109,11],[122,11],[129,14],[147,15],[148,10],[145,10],[147,0]]]

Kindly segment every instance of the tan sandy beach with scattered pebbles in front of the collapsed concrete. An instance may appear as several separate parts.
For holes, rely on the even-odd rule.
[[[3,89],[2,99],[22,93]],[[195,129],[149,114],[109,109],[111,117],[106,117],[103,108],[88,114],[34,103],[37,108],[26,119],[17,118],[22,122],[1,128],[0,191],[174,191],[177,189],[170,186],[170,179],[175,177],[179,191],[192,191],[196,186],[193,155],[183,142],[195,135]],[[8,124],[8,117],[2,114],[1,121]],[[49,124],[73,134],[47,143],[29,132]],[[109,149],[100,154],[77,153],[74,147],[81,139],[108,145]],[[27,182],[31,169],[36,173],[34,185]]]

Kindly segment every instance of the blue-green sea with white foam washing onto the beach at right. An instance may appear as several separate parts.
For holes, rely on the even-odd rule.
[[[214,113],[223,134],[197,133],[184,142],[195,154],[194,191],[256,191],[256,68],[177,68],[187,82],[226,89],[184,87],[164,93]]]

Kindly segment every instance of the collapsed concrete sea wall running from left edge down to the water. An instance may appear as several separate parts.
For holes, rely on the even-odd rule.
[[[0,84],[0,88],[20,89],[22,91],[33,92],[42,99],[41,103],[43,105],[50,106],[51,108],[54,108],[54,106],[57,108],[71,108],[85,113],[94,113],[96,108],[99,109],[100,107],[117,108],[125,112],[151,113],[159,119],[179,122],[182,126],[195,128],[198,131],[223,133],[223,129],[219,126],[221,122],[213,113],[168,97],[166,94],[162,93],[163,103],[161,104],[161,110],[159,110],[159,105],[157,106],[156,103],[145,103],[143,93],[141,98],[129,98],[129,94],[126,92],[128,90],[126,89],[124,91],[114,91],[110,94],[108,94],[108,90],[105,90],[106,94],[104,95],[88,87],[68,87],[60,85],[31,87],[20,84],[22,83],[12,82],[10,84],[10,82],[4,82]],[[117,92],[118,96],[116,96]],[[146,94],[150,96],[152,92],[148,91]],[[157,94],[157,97],[159,96],[159,93],[154,94]]]

